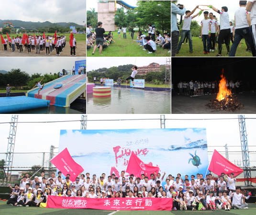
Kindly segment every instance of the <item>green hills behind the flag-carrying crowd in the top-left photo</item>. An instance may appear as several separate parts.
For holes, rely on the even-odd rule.
[[[52,23],[49,21],[45,22],[32,22],[32,21],[21,21],[21,20],[0,20],[0,28],[3,28],[4,22],[12,22],[12,26],[14,27],[22,27],[24,29],[37,29],[37,28],[54,28],[57,27],[69,27],[69,26],[75,26],[76,28],[83,28],[83,25],[78,25],[74,22],[58,22],[58,23]]]

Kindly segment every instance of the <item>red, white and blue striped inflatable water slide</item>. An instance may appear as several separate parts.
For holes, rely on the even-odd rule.
[[[41,84],[43,86],[44,80]],[[62,84],[62,87],[55,89],[59,84]],[[86,91],[86,75],[65,75],[52,82],[45,83],[39,96],[37,95],[38,90],[39,88],[36,87],[28,91],[26,95],[32,98],[50,100],[51,105],[69,107],[79,95]]]

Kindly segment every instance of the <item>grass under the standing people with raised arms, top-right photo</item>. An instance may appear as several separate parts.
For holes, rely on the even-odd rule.
[[[252,57],[252,53],[245,51],[246,50],[245,39],[243,39],[243,41],[241,42],[244,44],[241,44],[241,48],[239,48],[239,45],[238,45],[235,57]],[[230,46],[232,46],[232,42],[230,42]],[[215,57],[218,54],[218,50],[214,50],[213,52],[207,55],[203,54],[203,52],[204,51],[203,51],[202,39],[198,37],[193,37],[193,53],[192,54],[189,53],[189,44],[184,43],[181,46],[179,53],[176,54],[176,57]],[[222,56],[228,57],[226,54],[227,54],[226,45],[223,44]]]

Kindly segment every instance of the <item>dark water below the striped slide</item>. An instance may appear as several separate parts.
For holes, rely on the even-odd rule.
[[[33,110],[20,111],[13,114],[81,114],[86,112],[84,105],[85,104],[82,103],[72,102],[71,106],[68,108],[50,105],[49,108],[38,108]]]

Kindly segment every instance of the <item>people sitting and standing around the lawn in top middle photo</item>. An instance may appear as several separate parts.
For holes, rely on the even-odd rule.
[[[101,55],[104,48],[109,47],[111,43],[115,43],[113,40],[113,33],[112,31],[109,31],[109,33],[106,34],[104,28],[102,28],[102,22],[98,22],[98,27],[95,29],[95,32],[92,32],[90,28],[91,25],[87,25],[87,50],[94,48],[92,52],[92,54],[94,54],[96,49],[99,48]],[[119,39],[121,39],[121,34],[123,34],[123,39],[126,39],[127,31],[129,31],[133,40],[135,31],[134,28],[130,26],[128,30],[126,26],[118,29]],[[154,53],[157,50],[157,46],[164,50],[168,50],[168,53],[171,52],[171,34],[164,33],[164,36],[162,36],[159,31],[156,31],[155,25],[148,25],[147,35],[143,34],[142,31],[139,31],[137,40],[134,41],[142,46],[144,51],[148,50],[148,54]]]

